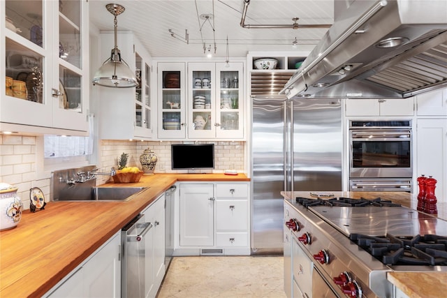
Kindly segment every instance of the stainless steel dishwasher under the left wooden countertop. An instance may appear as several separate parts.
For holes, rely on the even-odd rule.
[[[138,214],[122,229],[122,298],[145,297],[145,235],[152,227]]]

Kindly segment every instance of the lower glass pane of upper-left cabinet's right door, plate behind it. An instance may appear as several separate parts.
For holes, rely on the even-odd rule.
[[[59,66],[59,108],[64,110],[81,111],[82,92],[81,79],[78,73]]]

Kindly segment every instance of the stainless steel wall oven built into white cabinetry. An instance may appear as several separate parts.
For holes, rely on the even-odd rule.
[[[350,120],[351,191],[411,191],[411,120]]]

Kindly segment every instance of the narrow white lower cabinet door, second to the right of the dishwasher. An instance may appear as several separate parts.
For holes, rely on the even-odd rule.
[[[154,296],[165,275],[165,195],[154,204]]]

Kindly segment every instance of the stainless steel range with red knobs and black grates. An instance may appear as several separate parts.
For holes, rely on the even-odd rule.
[[[447,221],[390,201],[285,200],[284,222],[301,258],[285,271],[289,297],[394,297],[389,271],[447,271]]]

